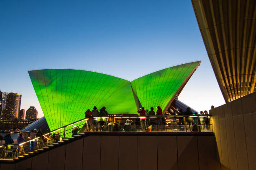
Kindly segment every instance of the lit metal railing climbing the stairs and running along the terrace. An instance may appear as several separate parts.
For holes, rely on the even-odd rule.
[[[208,118],[208,119],[206,119]],[[80,123],[82,122],[82,123]],[[77,127],[72,127],[77,125]],[[0,159],[12,159],[86,132],[212,132],[209,115],[89,117],[23,143],[0,145]],[[56,133],[56,134],[55,134]],[[36,150],[36,151],[35,151]]]

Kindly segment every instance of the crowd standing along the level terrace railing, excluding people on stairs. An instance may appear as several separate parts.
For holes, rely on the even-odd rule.
[[[212,106],[214,108],[214,106]],[[165,114],[162,113],[162,109],[160,106],[156,107],[156,112],[154,111],[154,107],[150,108],[150,111],[145,110],[144,107],[141,107],[138,110],[138,116],[131,119],[121,120],[121,121],[108,121],[108,112],[106,107],[103,106],[100,109],[100,112],[97,110],[97,107],[94,106],[91,111],[88,109],[84,114],[87,118],[87,123],[84,131],[148,131],[148,130],[157,130],[164,131],[166,128],[172,127],[173,131],[182,130],[182,131],[209,131],[210,130],[210,116],[205,110],[200,113],[192,112],[190,107],[187,107],[187,110],[183,112],[183,110],[175,110],[174,113],[170,113],[168,111]],[[162,115],[204,115],[204,117],[189,117],[187,116],[184,120],[183,117],[173,117],[166,118],[160,117]],[[167,123],[167,119],[171,120],[171,124]],[[92,127],[90,127],[92,126]]]

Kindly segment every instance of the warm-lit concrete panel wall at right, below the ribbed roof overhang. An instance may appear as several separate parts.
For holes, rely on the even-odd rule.
[[[222,170],[256,169],[256,92],[210,110]]]

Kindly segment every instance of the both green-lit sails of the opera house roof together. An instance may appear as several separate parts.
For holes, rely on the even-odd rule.
[[[45,69],[28,73],[49,128],[55,130],[83,119],[84,112],[94,106],[105,106],[109,114],[136,114],[141,105],[145,109],[158,105],[164,109],[199,64],[200,61],[169,67],[132,82],[84,70]]]

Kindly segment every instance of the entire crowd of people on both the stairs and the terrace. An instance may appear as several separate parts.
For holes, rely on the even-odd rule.
[[[211,108],[214,108],[212,106]],[[138,132],[138,131],[164,131],[167,128],[172,128],[170,131],[209,131],[210,130],[210,115],[205,111],[192,112],[192,110],[187,107],[187,110],[183,112],[183,110],[175,110],[170,113],[166,111],[164,114],[162,113],[162,109],[160,106],[156,107],[156,112],[154,111],[154,107],[150,108],[150,111],[145,110],[144,107],[141,107],[138,110],[138,117],[130,117],[130,119],[121,118],[120,120],[114,120],[112,117],[112,121],[108,121],[110,117],[108,117],[108,111],[106,107],[102,107],[100,112],[97,107],[94,106],[91,111],[88,109],[84,114],[85,118],[87,118],[86,123],[83,128],[79,128],[79,126],[74,125],[71,129],[72,137],[74,135],[78,135],[79,131],[113,131],[113,132]],[[188,115],[188,116],[162,116],[162,115]],[[191,115],[203,115],[203,116],[191,116]],[[114,121],[113,121],[114,120]],[[80,125],[81,126],[81,125]],[[92,128],[90,128],[92,126]],[[62,135],[59,132],[49,133],[48,135],[44,135],[42,130],[31,130],[28,135],[27,140],[29,141],[29,148],[26,150],[23,148],[23,144],[26,141],[23,138],[23,134],[20,133],[17,139],[18,148],[17,155],[26,154],[26,152],[33,152],[35,150],[35,146],[37,149],[43,148],[48,145],[53,145],[58,141],[61,141]],[[14,143],[11,134],[8,133],[3,138],[5,140],[5,148],[4,148],[4,158],[11,158],[14,156],[14,150],[12,150],[12,145]]]

